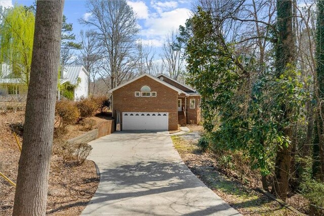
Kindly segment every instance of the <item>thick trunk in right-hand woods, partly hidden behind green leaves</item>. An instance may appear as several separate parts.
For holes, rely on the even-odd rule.
[[[295,42],[292,25],[292,0],[277,0],[277,26],[278,42],[276,45],[276,71],[277,76],[284,74],[287,66],[295,63]],[[282,116],[284,121],[291,121],[291,111],[285,103],[281,104]],[[292,124],[281,131],[290,140],[293,139]],[[272,192],[282,200],[287,199],[289,188],[289,175],[291,167],[292,145],[278,147],[275,161],[275,176]]]

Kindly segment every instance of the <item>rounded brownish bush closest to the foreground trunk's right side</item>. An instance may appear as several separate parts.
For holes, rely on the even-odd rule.
[[[58,118],[59,128],[75,124],[79,117],[79,112],[74,102],[69,100],[57,101],[55,105],[55,116]]]

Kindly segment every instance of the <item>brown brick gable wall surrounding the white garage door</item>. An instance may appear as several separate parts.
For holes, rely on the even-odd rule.
[[[156,97],[135,97],[136,91],[142,86],[151,88]],[[178,129],[178,92],[149,78],[142,77],[126,86],[112,92],[112,109],[116,119],[116,112],[120,112],[121,129],[123,129],[122,112],[168,112],[169,130]]]

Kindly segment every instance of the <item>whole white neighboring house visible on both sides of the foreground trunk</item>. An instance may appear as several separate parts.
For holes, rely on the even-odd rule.
[[[7,64],[0,64],[0,96],[7,95],[26,95],[28,87],[22,82],[22,79],[14,78],[12,70]],[[75,85],[80,80],[78,86],[74,89],[74,100],[80,97],[89,96],[89,73],[82,65],[62,66],[60,84],[70,82]],[[58,91],[58,98],[60,92]]]

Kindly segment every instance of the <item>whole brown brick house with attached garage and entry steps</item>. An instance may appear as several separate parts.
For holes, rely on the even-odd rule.
[[[109,93],[121,130],[177,130],[200,122],[200,95],[163,74],[140,75]]]

